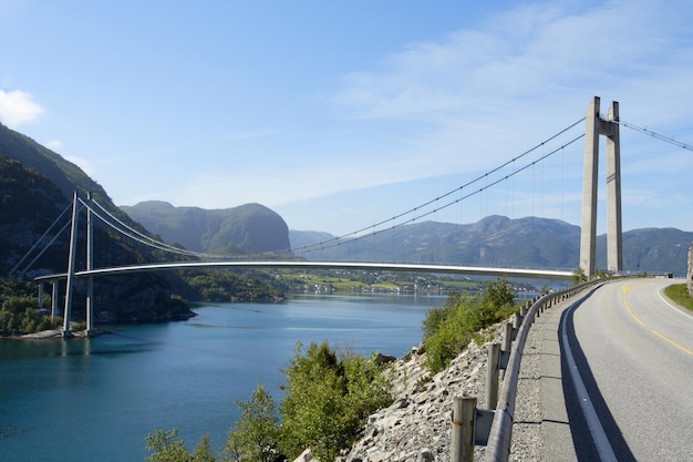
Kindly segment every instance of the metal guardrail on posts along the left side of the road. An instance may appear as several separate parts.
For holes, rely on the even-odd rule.
[[[486,445],[484,458],[486,462],[507,462],[513,443],[513,419],[520,362],[529,328],[545,308],[550,308],[588,287],[603,283],[603,279],[596,279],[530,300],[523,306],[520,314],[516,315],[515,326],[508,326],[509,322],[506,325],[503,350],[498,343],[493,343],[488,353],[486,402],[489,407],[497,403],[496,408],[495,410],[476,409],[476,398],[455,398],[452,462],[472,462],[475,444]],[[518,320],[517,317],[520,319]],[[505,373],[503,387],[498,393],[499,369],[505,369]]]

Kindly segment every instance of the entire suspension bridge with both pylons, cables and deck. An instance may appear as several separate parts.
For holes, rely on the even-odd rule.
[[[585,133],[580,134],[567,143],[556,147],[555,150],[545,153],[534,161],[526,161],[526,156],[536,152],[547,145],[549,141],[558,137],[568,130],[585,122]],[[118,219],[112,213],[107,212],[102,205],[94,201],[91,195],[85,198],[80,197],[77,193],[74,193],[72,204],[66,207],[63,213],[55,219],[51,228],[37,242],[27,255],[15,265],[11,273],[17,271],[21,265],[24,264],[29,255],[33,255],[38,246],[48,239],[49,234],[59,223],[63,223],[65,216],[71,211],[71,216],[64,223],[62,228],[54,234],[54,237],[44,245],[43,249],[27,265],[25,268],[31,267],[35,263],[43,251],[55,240],[55,238],[70,227],[70,245],[69,245],[69,259],[68,270],[62,274],[52,274],[37,277],[39,283],[39,299],[42,300],[43,285],[45,283],[52,284],[52,302],[53,312],[58,310],[56,304],[61,298],[59,295],[59,281],[66,280],[65,294],[64,294],[64,336],[70,336],[70,320],[72,316],[72,299],[74,290],[74,280],[76,278],[87,278],[87,295],[86,295],[86,330],[87,335],[94,331],[93,322],[93,278],[104,275],[118,275],[141,271],[157,271],[157,270],[172,270],[172,269],[186,269],[186,268],[298,268],[298,269],[350,269],[350,270],[382,270],[382,271],[415,271],[426,274],[457,274],[457,275],[479,275],[479,276],[501,276],[508,278],[537,278],[537,279],[561,279],[569,280],[573,277],[573,271],[561,271],[551,269],[531,269],[531,268],[499,268],[499,267],[476,267],[476,266],[462,266],[462,265],[439,265],[439,264],[421,264],[421,263],[372,263],[372,261],[314,261],[308,259],[299,259],[297,255],[306,255],[314,249],[325,249],[333,246],[341,246],[348,243],[362,240],[365,238],[374,237],[382,233],[393,232],[395,228],[411,224],[415,220],[428,216],[435,216],[435,214],[444,208],[458,204],[472,196],[478,195],[489,187],[503,182],[507,182],[509,178],[519,174],[520,172],[530,168],[537,163],[550,157],[565,150],[567,146],[576,143],[577,141],[585,138],[585,175],[582,185],[582,227],[580,238],[580,266],[579,268],[585,271],[587,277],[592,276],[596,273],[596,240],[597,240],[597,191],[598,191],[598,174],[599,174],[599,138],[600,136],[607,137],[607,204],[608,204],[608,267],[618,273],[622,270],[623,257],[622,257],[622,229],[621,229],[621,171],[620,171],[620,126],[627,126],[629,129],[649,134],[658,137],[662,141],[670,142],[679,145],[680,147],[691,150],[691,146],[675,142],[674,140],[666,138],[654,132],[649,132],[645,129],[641,129],[638,125],[625,123],[620,121],[619,117],[619,104],[612,102],[609,112],[606,117],[600,115],[600,99],[594,96],[588,107],[587,115],[579,121],[572,123],[567,129],[560,131],[556,135],[548,140],[542,141],[532,148],[525,153],[513,157],[503,165],[486,172],[484,175],[465,183],[464,185],[455,188],[444,195],[437,196],[432,201],[417,205],[404,212],[390,217],[385,220],[375,223],[365,228],[358,229],[353,233],[349,233],[342,236],[333,237],[320,243],[307,245],[301,248],[291,249],[291,253],[281,258],[272,259],[258,259],[246,258],[239,259],[236,257],[225,257],[219,255],[208,255],[195,251],[185,250],[173,245],[166,244],[159,239],[155,239],[144,233],[134,229],[123,220]],[[497,174],[501,170],[513,165],[517,165],[519,162],[526,162],[524,166],[516,167],[511,173],[500,175],[495,181],[488,178],[493,174]],[[482,186],[475,186],[485,182]],[[77,236],[80,235],[80,212],[86,211],[86,258],[85,268],[76,268],[76,253],[77,253]],[[156,250],[170,253],[180,256],[184,261],[166,261],[166,263],[151,263],[138,265],[118,265],[103,268],[94,268],[94,246],[93,246],[93,226],[95,219],[105,224],[106,227],[120,235],[132,239],[138,244],[148,246]],[[397,222],[397,225],[392,225]],[[194,260],[192,260],[194,259]],[[25,271],[25,269],[23,270]],[[22,271],[20,271],[22,273]]]

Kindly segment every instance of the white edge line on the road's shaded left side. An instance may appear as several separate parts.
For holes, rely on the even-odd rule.
[[[576,304],[573,304],[568,309],[575,310],[577,306]],[[599,417],[597,417],[594,405],[592,405],[592,401],[590,400],[590,397],[587,392],[587,388],[585,388],[585,383],[582,382],[582,378],[580,377],[580,372],[578,371],[578,366],[576,365],[572,352],[570,351],[568,336],[566,335],[566,319],[567,316],[563,316],[563,318],[561,319],[561,343],[566,353],[566,361],[568,362],[568,371],[576,388],[576,393],[578,394],[578,401],[580,402],[580,408],[582,409],[582,413],[585,414],[585,420],[587,420],[587,427],[589,428],[590,434],[594,440],[594,445],[597,446],[597,452],[599,453],[599,459],[601,460],[601,462],[617,462],[618,459],[613,453],[613,449],[609,443],[609,438],[607,438],[607,433],[604,433],[603,427],[601,427]]]

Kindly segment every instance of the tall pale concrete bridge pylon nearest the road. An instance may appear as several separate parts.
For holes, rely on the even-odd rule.
[[[597,181],[600,135],[607,137],[607,269],[620,271],[623,269],[623,238],[619,103],[611,102],[604,120],[599,115],[599,96],[594,96],[587,110],[585,126],[585,176],[580,233],[580,269],[588,278],[597,271]]]

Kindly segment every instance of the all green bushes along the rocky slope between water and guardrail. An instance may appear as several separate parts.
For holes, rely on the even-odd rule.
[[[451,292],[442,308],[428,310],[423,321],[427,368],[447,367],[470,340],[485,341],[478,331],[519,309],[505,278],[489,281],[477,295]],[[148,462],[292,460],[311,448],[319,460],[334,460],[351,446],[364,419],[392,403],[386,365],[352,351],[334,351],[327,342],[298,343],[283,373],[283,398],[277,404],[258,384],[249,401],[237,401],[241,417],[229,431],[220,453],[208,437],[193,452],[178,438],[178,429],[156,430],[146,438]]]

